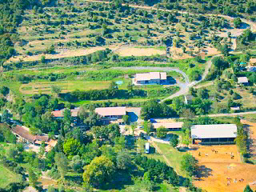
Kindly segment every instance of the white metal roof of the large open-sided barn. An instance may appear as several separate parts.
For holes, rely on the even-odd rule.
[[[191,126],[191,138],[236,138],[237,132],[234,124]]]

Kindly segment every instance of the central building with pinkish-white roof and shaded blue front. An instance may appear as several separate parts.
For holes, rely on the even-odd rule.
[[[117,121],[126,115],[125,106],[117,107],[98,107],[95,109],[95,113],[101,115],[103,120],[106,121]]]

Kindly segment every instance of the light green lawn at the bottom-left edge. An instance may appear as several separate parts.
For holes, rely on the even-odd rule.
[[[21,182],[22,175],[14,174],[10,170],[0,165],[0,187],[6,187],[10,182]]]

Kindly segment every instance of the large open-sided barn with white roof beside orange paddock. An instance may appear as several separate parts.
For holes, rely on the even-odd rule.
[[[234,124],[194,125],[191,138],[195,144],[234,144],[238,128]]]

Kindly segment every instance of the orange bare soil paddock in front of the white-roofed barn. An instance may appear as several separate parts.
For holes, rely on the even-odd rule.
[[[197,150],[192,150],[191,154],[198,159],[201,170],[201,177],[194,180],[194,185],[201,187],[208,192],[242,191],[246,184],[256,181],[256,166],[242,163],[237,150],[237,146],[195,146]],[[212,150],[218,151],[217,154]],[[200,152],[201,156],[198,156]],[[234,159],[231,159],[231,153]],[[208,156],[206,156],[208,154]],[[231,178],[230,185],[227,179]],[[234,182],[234,179],[237,182]],[[244,179],[243,182],[239,182]],[[250,185],[255,190],[255,185]]]

